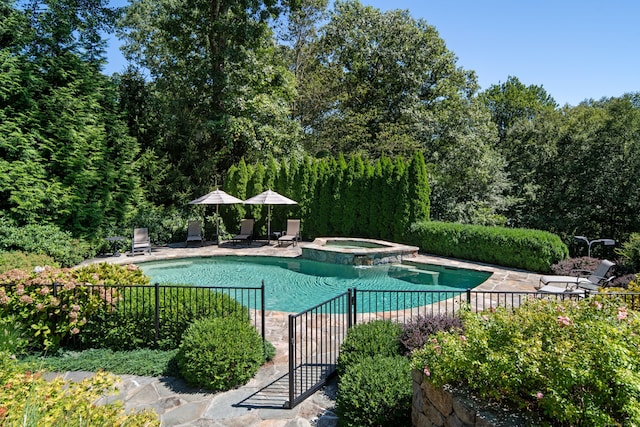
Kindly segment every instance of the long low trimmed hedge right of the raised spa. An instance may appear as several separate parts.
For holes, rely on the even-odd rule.
[[[560,237],[540,230],[423,221],[411,225],[408,239],[434,255],[541,273],[569,256]]]

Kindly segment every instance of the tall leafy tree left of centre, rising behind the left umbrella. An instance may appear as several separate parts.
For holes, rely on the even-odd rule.
[[[167,203],[207,191],[240,158],[296,151],[294,77],[268,26],[284,6],[135,0],[127,8],[125,53],[149,71],[165,124],[159,155],[173,169]]]

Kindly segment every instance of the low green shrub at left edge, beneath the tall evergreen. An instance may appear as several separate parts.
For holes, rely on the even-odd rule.
[[[48,255],[63,267],[79,264],[95,255],[90,245],[54,225],[16,227],[0,218],[0,250]]]

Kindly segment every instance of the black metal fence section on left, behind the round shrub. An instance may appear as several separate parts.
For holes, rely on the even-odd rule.
[[[19,294],[28,295],[32,289],[42,295],[40,290],[46,289],[44,294],[57,297],[63,306],[76,300],[88,301],[87,295],[96,296],[94,301],[99,301],[101,309],[94,310],[87,319],[82,338],[76,335],[66,343],[77,348],[88,347],[93,342],[107,342],[122,349],[135,347],[133,343],[123,342],[127,339],[135,339],[136,344],[143,346],[175,348],[194,319],[212,315],[245,316],[265,339],[264,282],[258,287],[0,284],[0,289],[6,295],[17,290]],[[33,304],[37,302],[36,299]],[[66,320],[61,318],[61,321]],[[129,336],[110,337],[112,329],[126,330]]]

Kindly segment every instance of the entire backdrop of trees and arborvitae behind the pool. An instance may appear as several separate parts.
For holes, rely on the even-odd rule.
[[[129,67],[105,76],[115,28]],[[174,227],[216,186],[266,186],[301,201],[318,235],[394,238],[390,224],[425,213],[565,237],[640,231],[638,93],[559,107],[516,76],[480,91],[407,11],[0,0],[0,68],[0,220],[18,226]],[[374,208],[376,191],[401,200]]]

